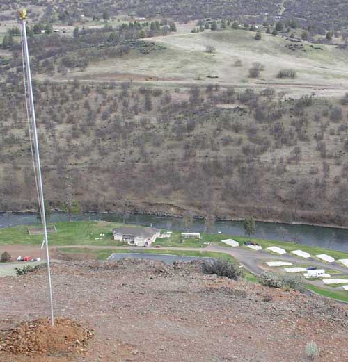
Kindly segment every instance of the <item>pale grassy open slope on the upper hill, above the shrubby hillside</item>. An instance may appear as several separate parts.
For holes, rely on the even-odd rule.
[[[260,41],[254,37],[254,32],[243,30],[173,33],[150,38],[164,45],[164,51],[131,52],[123,58],[103,60],[84,72],[72,72],[68,76],[85,80],[101,80],[107,76],[118,80],[123,74],[134,81],[159,80],[176,85],[211,83],[209,76],[217,76],[214,83],[243,88],[274,85],[278,90],[286,89],[293,97],[306,94],[310,87],[330,96],[343,94],[348,88],[347,50],[329,45],[321,45],[323,50],[319,50],[303,43],[303,50],[291,51],[285,47],[291,43],[280,36],[262,34]],[[208,44],[216,49],[214,54],[205,52]],[[233,66],[237,59],[242,60],[242,67]],[[248,69],[254,62],[264,65],[260,79],[248,78]],[[296,79],[278,79],[276,74],[284,68],[294,69]]]

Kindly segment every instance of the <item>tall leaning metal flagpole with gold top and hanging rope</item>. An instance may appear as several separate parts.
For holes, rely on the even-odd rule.
[[[42,186],[42,174],[41,174],[41,164],[40,164],[40,152],[38,145],[38,131],[36,129],[36,118],[35,118],[35,106],[33,98],[33,85],[31,83],[31,69],[30,69],[30,59],[29,59],[29,49],[28,49],[28,39],[26,37],[26,10],[23,9],[19,11],[20,19],[22,22],[22,33],[23,33],[23,43],[24,43],[24,56],[26,63],[26,77],[28,79],[28,93],[29,93],[29,104],[31,109],[31,117],[33,121],[33,141],[35,149],[35,159],[37,163],[37,172],[38,172],[38,188],[39,188],[39,204],[41,211],[41,221],[42,227],[45,233],[45,245],[46,245],[46,258],[47,258],[47,274],[48,274],[48,286],[49,286],[49,305],[51,309],[51,324],[54,325],[54,313],[53,313],[53,297],[52,297],[52,281],[51,281],[51,268],[49,265],[49,248],[48,248],[48,238],[47,238],[47,224],[46,224],[46,215],[45,215],[45,199]],[[23,69],[24,72],[24,69]],[[35,172],[35,170],[34,170]]]

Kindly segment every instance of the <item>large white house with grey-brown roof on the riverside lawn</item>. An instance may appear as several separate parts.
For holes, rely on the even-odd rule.
[[[120,227],[113,229],[113,240],[127,242],[129,245],[146,247],[159,236],[159,229],[152,227]]]

